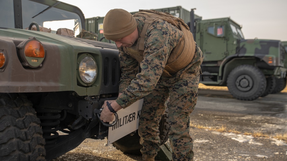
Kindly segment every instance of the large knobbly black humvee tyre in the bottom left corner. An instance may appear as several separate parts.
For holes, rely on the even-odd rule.
[[[45,140],[32,103],[0,93],[0,160],[45,160]]]

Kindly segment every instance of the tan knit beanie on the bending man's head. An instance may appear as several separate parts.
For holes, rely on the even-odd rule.
[[[137,21],[126,10],[112,9],[104,17],[103,34],[108,40],[121,39],[135,31]]]

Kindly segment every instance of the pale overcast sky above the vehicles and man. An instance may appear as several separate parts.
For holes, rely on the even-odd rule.
[[[59,0],[77,6],[85,18],[104,17],[110,9],[128,12],[181,6],[202,19],[230,17],[242,26],[245,39],[287,41],[287,0]]]

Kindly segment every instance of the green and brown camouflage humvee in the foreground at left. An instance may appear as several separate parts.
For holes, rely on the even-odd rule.
[[[60,1],[0,1],[0,12],[0,160],[51,160],[107,137],[113,124],[99,116],[118,96],[116,45],[76,37],[84,15]]]

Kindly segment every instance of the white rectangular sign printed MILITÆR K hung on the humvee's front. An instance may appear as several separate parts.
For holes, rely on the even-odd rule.
[[[117,112],[118,122],[108,129],[108,144],[111,144],[118,139],[139,128],[139,115],[143,106],[144,99],[131,104],[131,106],[121,109]],[[112,122],[110,122],[111,124]]]

